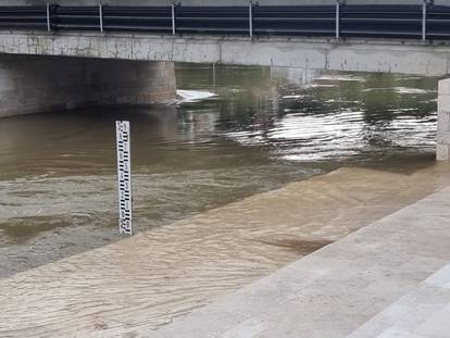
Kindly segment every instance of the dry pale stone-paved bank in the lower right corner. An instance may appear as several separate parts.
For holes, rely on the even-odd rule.
[[[446,188],[148,337],[448,337],[449,220]]]

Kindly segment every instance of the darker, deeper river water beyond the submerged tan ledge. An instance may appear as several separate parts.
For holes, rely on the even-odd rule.
[[[435,78],[182,64],[177,83],[177,107],[1,121],[0,276],[121,239],[116,118],[132,122],[139,231],[343,165],[434,163]]]

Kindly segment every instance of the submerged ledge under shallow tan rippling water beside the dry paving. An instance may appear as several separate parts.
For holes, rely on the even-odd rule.
[[[0,335],[152,337],[177,321],[450,183],[341,168],[0,279]]]

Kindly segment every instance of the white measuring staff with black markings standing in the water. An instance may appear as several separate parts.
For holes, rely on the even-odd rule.
[[[118,228],[121,234],[132,235],[133,198],[129,122],[116,121],[115,125],[117,137]]]

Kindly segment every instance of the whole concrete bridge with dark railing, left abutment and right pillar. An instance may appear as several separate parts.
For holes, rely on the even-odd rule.
[[[22,2],[45,8],[42,1]],[[60,1],[60,4],[67,2]],[[224,21],[221,16],[212,24],[205,22],[205,26],[193,28],[183,26],[183,21],[196,18],[199,12],[190,17],[180,12],[179,18],[174,7],[164,7],[166,1],[151,2],[165,9],[161,11],[172,8],[172,20],[167,21],[166,26],[157,27],[161,32],[136,30],[136,25],[129,26],[129,22],[122,22],[122,25],[134,29],[113,29],[117,26],[108,20],[116,20],[117,15],[108,16],[108,13],[102,12],[102,7],[92,5],[93,1],[68,2],[71,5],[90,5],[90,12],[86,9],[82,11],[84,16],[71,16],[64,12],[52,14],[50,7],[46,8],[45,14],[39,14],[41,16],[34,14],[37,18],[33,18],[33,23],[45,23],[47,29],[30,29],[26,25],[21,29],[15,26],[12,29],[5,26],[5,29],[0,30],[0,72],[4,78],[0,92],[5,98],[0,103],[0,116],[89,105],[166,101],[175,96],[173,62],[295,67],[305,73],[311,70],[334,70],[443,77],[450,72],[450,41],[445,34],[445,29],[450,26],[450,7],[435,9],[426,1],[399,1],[411,5],[400,8],[410,11],[408,15],[404,14],[405,17],[397,20],[391,12],[397,11],[396,15],[400,15],[399,10],[385,10],[382,5],[379,15],[376,14],[378,16],[373,14],[375,16],[367,18],[367,10],[362,12],[361,17],[354,17],[351,7],[346,12],[340,2],[333,1],[330,5],[330,1],[321,1],[323,5],[317,10],[323,11],[321,17],[308,14],[304,18],[312,22],[312,27],[318,23],[327,28],[320,34],[305,34],[308,27],[299,26],[298,23],[292,26],[292,17],[289,16],[292,8],[285,10],[284,14],[271,14],[270,17],[262,17],[264,14],[261,14],[260,18],[266,18],[264,22],[270,24],[258,26],[257,16],[252,16],[255,15],[252,5],[242,7],[239,1],[233,4],[236,2],[239,10],[234,11],[233,15],[227,14],[230,17]],[[289,1],[285,2],[289,4]],[[17,4],[17,1],[12,3]],[[116,3],[109,1],[111,5]],[[142,5],[149,2],[134,3]],[[436,1],[435,5],[438,3]],[[190,1],[189,4],[196,2]],[[347,16],[341,13],[347,13]],[[328,16],[323,18],[325,14]],[[157,18],[171,18],[167,15]],[[8,13],[1,14],[0,9],[1,17],[8,17]],[[70,20],[64,22],[67,17],[75,17],[76,24]],[[129,15],[125,18],[129,20]],[[197,18],[200,22],[204,20]],[[389,29],[379,30],[379,26],[371,26],[371,22],[379,20],[386,21],[384,25]],[[271,23],[275,26],[271,26]],[[372,27],[372,30],[361,30],[361,27],[366,26]],[[274,30],[274,27],[279,30]],[[237,34],[232,34],[233,29],[237,29]],[[286,35],[283,32],[287,32]],[[438,159],[448,159],[450,155],[449,114],[450,86],[445,80],[439,86]]]

